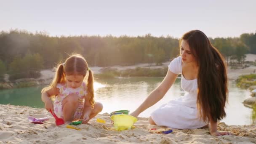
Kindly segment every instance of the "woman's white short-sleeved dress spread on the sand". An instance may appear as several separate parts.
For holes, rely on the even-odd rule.
[[[157,125],[178,129],[194,129],[207,125],[200,120],[197,112],[197,79],[186,80],[183,77],[181,56],[173,59],[168,68],[175,74],[181,74],[181,88],[186,93],[152,112],[151,117],[154,122]]]

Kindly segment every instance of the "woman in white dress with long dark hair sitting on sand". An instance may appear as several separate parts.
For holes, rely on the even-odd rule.
[[[162,99],[181,74],[185,96],[155,110],[149,123],[178,129],[202,128],[209,123],[212,135],[230,135],[217,131],[217,121],[226,116],[227,72],[224,59],[208,37],[199,30],[185,33],[180,40],[180,56],[168,68],[163,82],[131,115],[137,117]]]

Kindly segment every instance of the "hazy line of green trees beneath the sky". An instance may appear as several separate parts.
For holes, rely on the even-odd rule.
[[[256,33],[240,37],[209,38],[211,43],[229,59],[242,62],[246,53],[256,54]],[[50,37],[43,32],[11,30],[0,32],[0,77],[7,73],[11,79],[38,77],[41,69],[49,69],[80,53],[90,67],[161,64],[179,54],[179,39],[170,36],[138,37],[68,36]],[[227,61],[228,62],[228,61]]]

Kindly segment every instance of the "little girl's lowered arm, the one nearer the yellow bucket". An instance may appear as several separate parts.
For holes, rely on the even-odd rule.
[[[80,119],[83,120],[83,123],[87,123],[90,120],[90,115],[91,115],[91,104],[89,102],[90,96],[87,94],[85,96],[85,104],[83,107],[83,114],[81,115]]]

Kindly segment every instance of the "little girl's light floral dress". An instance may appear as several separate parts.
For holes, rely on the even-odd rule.
[[[79,88],[68,88],[67,83],[58,83],[57,88],[59,88],[59,94],[55,97],[55,101],[53,103],[54,113],[58,116],[63,118],[63,107],[62,101],[65,97],[69,94],[76,94],[78,96],[78,106],[74,114],[74,120],[80,119],[81,115],[83,114],[84,108],[84,101],[85,96],[87,94],[87,86],[85,82]]]

